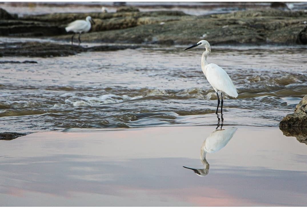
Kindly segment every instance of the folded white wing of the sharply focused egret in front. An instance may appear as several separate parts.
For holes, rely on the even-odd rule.
[[[238,92],[230,77],[220,66],[211,63],[207,66],[207,80],[214,89],[222,91],[229,96],[237,97]]]

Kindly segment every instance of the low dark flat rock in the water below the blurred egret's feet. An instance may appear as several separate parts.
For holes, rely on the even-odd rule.
[[[14,43],[0,43],[2,50],[1,56],[27,56],[27,57],[57,57],[76,55],[86,51],[115,51],[124,50],[127,48],[137,48],[138,46],[94,46],[81,47],[71,44],[55,44],[55,43],[39,43],[39,42],[14,42]]]

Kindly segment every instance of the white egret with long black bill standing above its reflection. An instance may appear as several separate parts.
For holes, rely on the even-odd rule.
[[[211,48],[207,40],[200,40],[198,43],[186,48],[185,50],[199,46],[205,48],[205,51],[201,56],[201,69],[203,70],[205,77],[212,85],[217,95],[217,108],[215,113],[217,114],[220,105],[220,97],[218,92],[221,93],[222,97],[221,113],[223,113],[223,93],[226,93],[227,95],[236,98],[238,96],[238,91],[235,88],[235,85],[232,83],[228,74],[225,72],[225,70],[223,70],[220,66],[214,63],[208,64],[207,57],[211,52]]]

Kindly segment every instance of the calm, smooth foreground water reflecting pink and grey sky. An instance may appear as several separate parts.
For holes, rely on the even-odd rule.
[[[1,205],[307,204],[306,145],[278,127],[236,126],[224,147],[207,153],[207,175],[183,168],[204,168],[200,148],[212,132],[223,131],[215,128],[43,132],[0,140]]]

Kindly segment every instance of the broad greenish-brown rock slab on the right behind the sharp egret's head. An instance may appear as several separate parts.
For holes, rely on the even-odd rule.
[[[88,41],[98,40],[115,43],[159,44],[173,42],[173,44],[192,44],[200,39],[206,39],[212,45],[242,43],[305,44],[301,40],[305,40],[304,29],[306,25],[302,22],[307,18],[307,13],[303,11],[247,10],[210,16],[174,15],[163,17],[164,19],[162,16],[158,16],[158,18],[160,18],[160,21],[155,17],[150,17],[148,22],[146,22],[146,17],[132,18],[127,20],[130,22],[128,26],[125,26],[127,24],[122,22],[120,27],[124,29],[112,31],[107,30],[104,25],[97,30],[93,29],[91,33],[84,34],[84,38]],[[161,22],[163,24],[160,24]],[[118,24],[120,25],[120,23]],[[99,31],[104,28],[105,31]],[[203,38],[204,34],[206,34],[205,38]],[[69,36],[56,37],[56,39],[62,38],[68,40]]]

